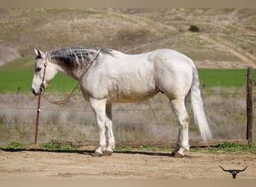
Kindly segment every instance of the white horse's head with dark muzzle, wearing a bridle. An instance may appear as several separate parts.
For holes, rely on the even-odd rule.
[[[46,53],[41,52],[39,49],[34,49],[36,57],[34,60],[34,78],[31,86],[31,91],[34,95],[42,94],[48,83],[56,75],[57,70],[55,65],[52,64]]]

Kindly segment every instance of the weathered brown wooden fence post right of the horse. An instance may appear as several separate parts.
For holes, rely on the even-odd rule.
[[[252,67],[248,67],[247,70],[247,91],[246,91],[246,111],[247,111],[247,132],[246,138],[249,144],[252,144],[254,140],[252,129]]]

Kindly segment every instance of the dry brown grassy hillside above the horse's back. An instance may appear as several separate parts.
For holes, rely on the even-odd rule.
[[[183,52],[197,67],[256,67],[256,9],[1,9],[1,64],[70,46]],[[195,25],[199,31],[189,31]],[[0,64],[0,65],[1,65]]]

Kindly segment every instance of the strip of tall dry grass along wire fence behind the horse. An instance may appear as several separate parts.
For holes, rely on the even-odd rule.
[[[248,79],[253,83],[252,79]],[[208,144],[223,139],[255,142],[253,139],[255,129],[252,129],[252,105],[246,109],[246,98],[247,103],[252,104],[255,101],[252,92],[246,94],[246,88],[214,88],[202,89],[202,96],[215,139]],[[73,95],[64,105],[49,103],[49,100],[65,97],[64,94],[50,93],[47,97],[47,99],[42,97],[41,100],[39,143],[57,139],[92,144],[98,140],[93,111],[80,93]],[[7,144],[10,141],[34,142],[37,97],[32,96],[31,93],[2,93],[0,103],[0,144]],[[198,128],[193,124],[190,101],[187,102],[187,109],[191,117],[189,137],[195,140],[195,144],[201,144],[198,141],[201,139]],[[116,103],[112,113],[115,138],[118,142],[169,144],[172,139],[177,138],[176,117],[167,97],[162,93],[141,103]],[[247,115],[251,116],[251,120],[247,120],[249,119]],[[249,127],[251,129],[247,128],[250,125],[246,126],[246,123],[251,124]]]

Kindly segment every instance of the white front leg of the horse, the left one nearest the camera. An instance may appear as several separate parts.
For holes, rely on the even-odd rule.
[[[91,108],[94,110],[100,135],[100,145],[97,150],[95,150],[94,156],[103,156],[103,152],[106,150],[106,99],[97,100],[90,98],[90,104]]]

